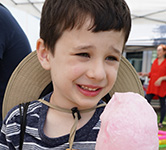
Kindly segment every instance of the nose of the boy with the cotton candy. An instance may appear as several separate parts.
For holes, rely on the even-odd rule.
[[[89,65],[87,76],[90,79],[96,80],[96,81],[102,81],[106,78],[106,70],[104,67],[104,64],[101,62],[93,63]]]

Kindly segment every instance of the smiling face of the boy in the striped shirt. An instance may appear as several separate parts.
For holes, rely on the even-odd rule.
[[[124,45],[123,32],[67,30],[55,45],[54,56],[47,51],[54,92],[51,102],[63,108],[94,107],[113,87]],[[49,67],[48,67],[49,66]]]

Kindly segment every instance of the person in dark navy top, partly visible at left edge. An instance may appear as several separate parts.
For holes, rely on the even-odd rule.
[[[10,11],[0,3],[0,128],[8,80],[19,62],[31,52],[29,41]]]

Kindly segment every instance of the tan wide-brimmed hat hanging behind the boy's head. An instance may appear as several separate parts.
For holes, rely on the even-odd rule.
[[[14,106],[38,99],[50,82],[50,73],[41,67],[36,51],[30,53],[17,66],[8,82],[3,100],[3,118]],[[118,77],[110,95],[129,91],[144,94],[137,72],[122,57]]]

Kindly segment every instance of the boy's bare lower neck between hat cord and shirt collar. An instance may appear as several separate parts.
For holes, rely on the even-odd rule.
[[[78,121],[77,130],[83,127],[93,116],[95,110],[87,113],[81,113],[81,119]],[[74,118],[72,113],[65,113],[48,109],[44,133],[51,138],[60,137],[70,133],[70,130],[74,124]]]

